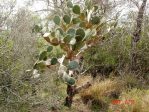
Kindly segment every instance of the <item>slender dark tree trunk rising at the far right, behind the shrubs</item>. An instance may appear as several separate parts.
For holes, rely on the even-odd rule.
[[[138,12],[138,17],[136,20],[137,26],[135,31],[132,35],[131,40],[131,70],[135,71],[137,69],[137,43],[141,38],[141,30],[142,30],[142,23],[143,23],[143,15],[146,7],[147,0],[143,0],[142,5]]]

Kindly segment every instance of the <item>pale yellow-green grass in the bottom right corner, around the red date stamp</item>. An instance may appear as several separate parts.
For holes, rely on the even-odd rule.
[[[125,101],[130,101],[125,103]],[[120,96],[121,104],[110,105],[109,110],[119,112],[149,112],[149,90],[132,89]]]

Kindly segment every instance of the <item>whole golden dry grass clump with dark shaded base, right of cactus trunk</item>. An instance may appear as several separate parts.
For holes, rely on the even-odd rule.
[[[80,93],[81,99],[93,111],[106,111],[112,99],[118,98],[123,91],[123,83],[119,80],[106,79],[95,81],[89,89]]]

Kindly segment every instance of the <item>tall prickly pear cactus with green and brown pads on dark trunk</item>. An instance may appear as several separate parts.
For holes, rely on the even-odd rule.
[[[101,23],[102,11],[93,5],[90,0],[86,0],[84,6],[66,1],[66,10],[63,16],[55,15],[53,22],[55,27],[52,31],[43,35],[50,44],[46,51],[41,52],[39,59],[34,65],[35,75],[46,67],[59,63],[58,75],[67,84],[67,97],[65,106],[71,107],[72,99],[82,88],[88,88],[88,82],[81,87],[76,86],[76,79],[73,78],[74,71],[80,68],[77,56],[82,54],[89,47],[96,45],[102,36],[103,23]],[[49,57],[53,47],[59,46],[63,56]]]

